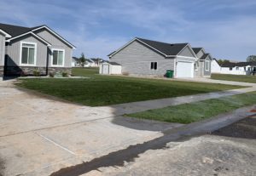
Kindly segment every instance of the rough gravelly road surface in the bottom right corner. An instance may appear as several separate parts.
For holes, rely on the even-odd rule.
[[[172,141],[165,148],[147,150],[122,166],[100,167],[83,175],[253,176],[255,128],[256,116],[248,116],[212,134]]]

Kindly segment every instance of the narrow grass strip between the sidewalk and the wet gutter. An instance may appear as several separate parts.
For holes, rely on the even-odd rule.
[[[169,106],[125,116],[163,122],[190,123],[253,104],[256,104],[256,92],[233,95],[219,99],[207,99],[195,103]]]

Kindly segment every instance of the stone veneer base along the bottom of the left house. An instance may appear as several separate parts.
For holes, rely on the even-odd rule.
[[[40,75],[46,75],[46,67],[38,67],[38,66],[7,66],[4,68],[6,76],[14,76],[14,75],[33,75],[33,71],[38,70]],[[48,74],[50,72],[62,72],[67,71],[69,75],[71,75],[71,68],[67,67],[49,67]],[[0,77],[1,77],[1,67],[0,67]]]

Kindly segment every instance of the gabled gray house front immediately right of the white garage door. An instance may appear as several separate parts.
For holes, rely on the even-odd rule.
[[[195,61],[195,77],[211,77],[212,56],[204,48],[192,48],[198,60]]]

